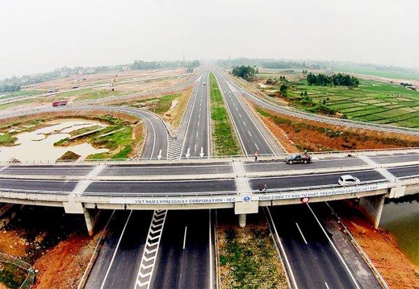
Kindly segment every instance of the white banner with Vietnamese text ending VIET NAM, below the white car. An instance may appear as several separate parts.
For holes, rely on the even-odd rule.
[[[266,193],[266,194],[253,194],[251,200],[286,200],[296,198],[312,198],[312,197],[325,197],[327,195],[341,195],[345,193],[362,193],[366,191],[375,191],[382,188],[388,188],[388,184],[376,184],[372,186],[353,186],[342,187],[333,190],[321,191],[306,191],[306,192],[293,192],[293,193]]]

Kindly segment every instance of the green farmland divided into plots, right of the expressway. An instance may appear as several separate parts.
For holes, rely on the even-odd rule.
[[[272,73],[260,73],[262,79],[259,83],[264,83],[267,78],[272,79]],[[300,74],[284,75],[287,80],[292,80],[288,82],[290,88],[286,95],[289,105],[308,112],[338,113],[341,117],[358,121],[419,128],[419,91],[362,78],[357,88],[309,86]],[[280,85],[281,82],[278,82],[260,89],[278,91]]]

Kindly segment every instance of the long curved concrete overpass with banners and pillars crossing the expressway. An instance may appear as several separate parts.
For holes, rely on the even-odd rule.
[[[418,148],[314,154],[312,163],[293,165],[283,156],[3,163],[0,202],[64,207],[84,214],[92,232],[101,209],[234,208],[244,226],[259,207],[361,198],[377,227],[385,197],[419,192],[418,168]],[[361,183],[340,186],[348,173]]]

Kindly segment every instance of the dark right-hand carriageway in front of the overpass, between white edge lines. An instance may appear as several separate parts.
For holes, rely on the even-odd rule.
[[[298,288],[357,288],[307,205],[269,210]]]

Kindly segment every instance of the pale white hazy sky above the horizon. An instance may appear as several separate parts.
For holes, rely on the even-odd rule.
[[[419,68],[418,0],[0,1],[0,79],[134,60],[277,58]]]

